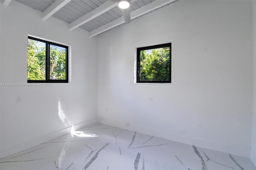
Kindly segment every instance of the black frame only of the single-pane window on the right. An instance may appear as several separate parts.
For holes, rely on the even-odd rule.
[[[169,76],[170,76],[170,80],[140,80],[140,51],[144,51],[144,50],[150,50],[150,49],[158,49],[158,48],[163,48],[163,47],[170,47],[170,72],[169,72]],[[148,47],[140,47],[137,48],[137,76],[136,76],[136,82],[137,83],[171,83],[171,68],[172,68],[172,58],[171,55],[172,54],[172,43],[165,43],[165,44],[159,44],[159,45],[152,45],[152,46],[148,46]]]

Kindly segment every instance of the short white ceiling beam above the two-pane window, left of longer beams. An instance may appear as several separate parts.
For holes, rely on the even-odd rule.
[[[56,0],[51,6],[49,6],[44,12],[43,12],[43,20],[47,20],[55,14],[58,10],[60,10],[63,6],[68,4],[71,0]]]

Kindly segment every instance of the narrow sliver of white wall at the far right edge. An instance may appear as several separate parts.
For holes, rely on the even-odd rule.
[[[252,1],[253,23],[253,115],[251,160],[256,166],[256,1]]]

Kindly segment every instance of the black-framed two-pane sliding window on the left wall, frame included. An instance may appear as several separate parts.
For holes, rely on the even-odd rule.
[[[28,37],[28,83],[68,82],[68,47]]]

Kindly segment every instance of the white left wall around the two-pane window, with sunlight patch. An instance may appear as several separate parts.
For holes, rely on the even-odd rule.
[[[26,83],[28,34],[72,48],[71,83],[0,87],[1,157],[68,133],[71,125],[96,123],[96,41],[82,29],[70,31],[67,23],[56,18],[43,21],[41,12],[15,1],[1,4],[0,14],[1,83]],[[59,113],[66,116],[64,122]]]

